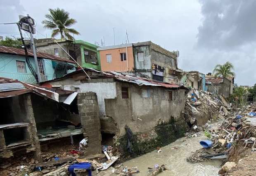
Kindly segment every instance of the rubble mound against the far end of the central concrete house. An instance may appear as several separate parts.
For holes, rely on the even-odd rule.
[[[219,117],[223,105],[220,97],[210,92],[192,89],[187,94],[185,117],[190,127],[204,125],[208,120]],[[196,127],[195,127],[196,128]]]

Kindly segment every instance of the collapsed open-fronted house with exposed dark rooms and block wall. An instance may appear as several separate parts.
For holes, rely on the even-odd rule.
[[[98,103],[93,92],[49,89],[0,77],[0,109],[4,117],[0,121],[1,158],[23,151],[40,161],[41,151],[60,141],[70,145],[71,138],[81,141],[84,137],[90,143],[85,154],[101,151]],[[87,135],[90,133],[93,136]]]

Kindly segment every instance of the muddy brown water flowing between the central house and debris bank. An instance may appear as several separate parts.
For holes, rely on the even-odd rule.
[[[218,124],[211,124],[211,128],[216,128]],[[216,176],[220,170],[221,161],[212,160],[210,162],[189,163],[186,158],[192,152],[202,148],[199,141],[206,139],[203,132],[197,137],[180,138],[175,142],[161,148],[162,152],[152,151],[132,160],[123,163],[127,167],[138,167],[140,170],[136,176],[147,176],[148,167],[154,168],[155,164],[166,164],[168,170],[159,174],[159,176]],[[178,149],[175,149],[178,147]]]

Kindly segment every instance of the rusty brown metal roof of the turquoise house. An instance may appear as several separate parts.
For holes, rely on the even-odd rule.
[[[5,46],[0,46],[0,53],[25,56],[24,49],[13,48],[13,47],[5,47]],[[62,62],[75,63],[74,61],[71,61],[69,59],[65,59],[65,58],[62,58],[62,57],[59,57],[59,56],[55,56],[55,55],[47,54],[47,53],[43,53],[43,52],[36,52],[36,55],[37,55],[38,58],[50,59],[50,60],[53,60],[53,61],[62,61]],[[28,50],[28,56],[34,56],[33,51]]]

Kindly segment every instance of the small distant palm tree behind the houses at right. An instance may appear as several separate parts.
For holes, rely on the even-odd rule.
[[[235,72],[232,72],[234,70],[234,66],[229,61],[224,63],[223,65],[218,64],[213,69],[213,74],[215,77],[223,76],[223,77],[235,77]]]

